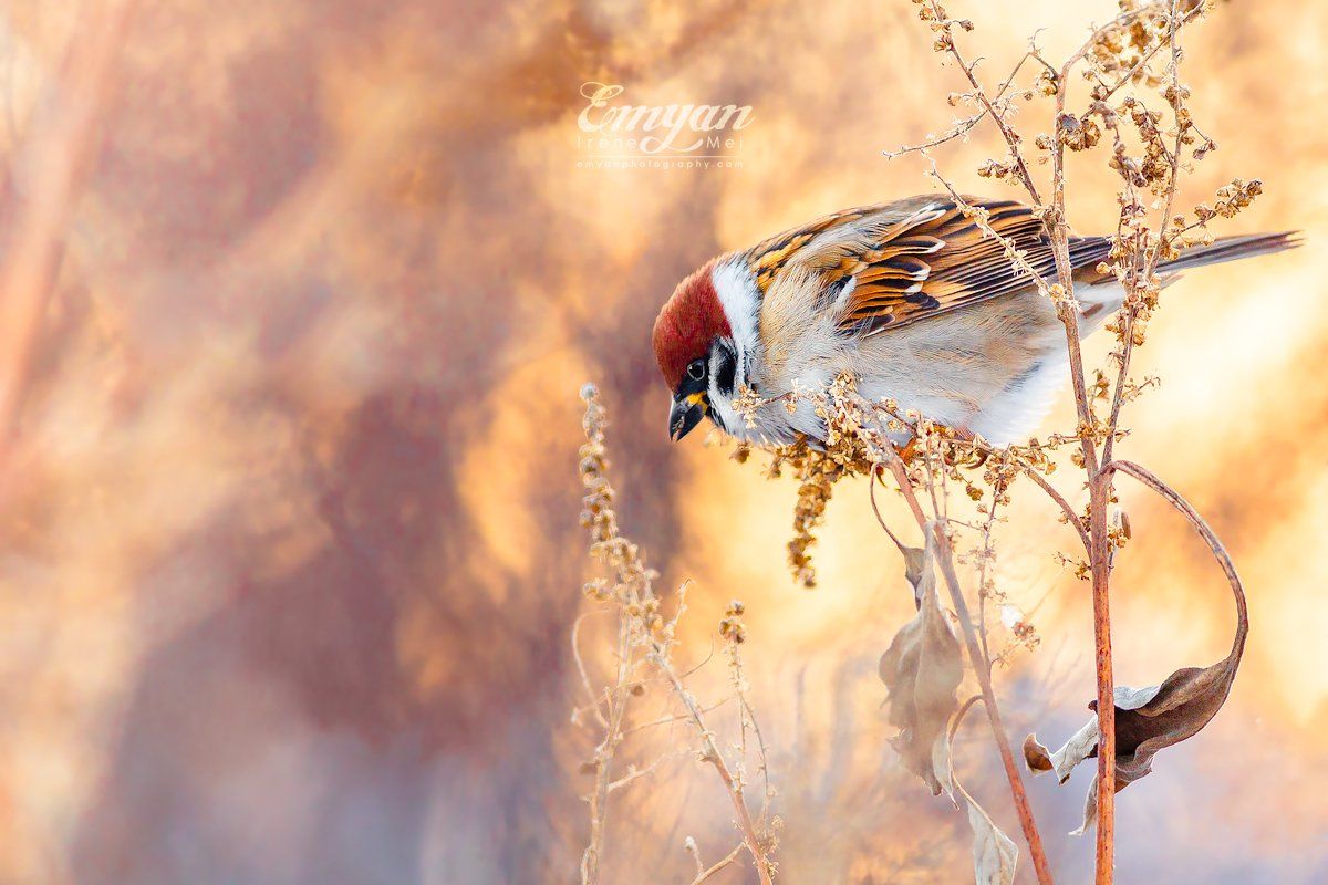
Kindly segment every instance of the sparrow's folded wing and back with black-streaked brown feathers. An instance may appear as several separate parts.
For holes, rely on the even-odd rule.
[[[987,222],[1023,252],[1038,276],[1056,271],[1050,241],[1032,210],[1015,202],[969,200]],[[850,210],[790,231],[753,249],[752,269],[762,292],[778,273],[798,267],[821,280],[826,308],[854,334],[898,329],[926,317],[1032,287],[1004,245],[985,236],[951,200],[915,198]],[[1106,259],[1106,238],[1070,238],[1070,265]]]

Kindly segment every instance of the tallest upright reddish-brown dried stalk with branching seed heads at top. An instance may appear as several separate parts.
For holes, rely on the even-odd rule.
[[[1081,520],[1074,517],[1065,499],[1054,492],[1045,482],[1038,484],[1053,500],[1072,517],[1072,521],[1081,532],[1081,537],[1088,547],[1088,572],[1093,585],[1093,628],[1096,646],[1096,682],[1097,682],[1097,711],[1098,711],[1098,792],[1097,809],[1098,824],[1096,836],[1096,881],[1105,885],[1113,880],[1113,853],[1114,853],[1114,789],[1116,783],[1116,727],[1114,727],[1114,685],[1112,666],[1112,622],[1110,622],[1110,569],[1112,556],[1120,544],[1118,529],[1109,524],[1108,512],[1114,500],[1112,464],[1113,444],[1118,438],[1118,425],[1121,406],[1130,390],[1137,391],[1138,386],[1131,385],[1127,378],[1130,354],[1134,346],[1142,342],[1142,326],[1149,312],[1157,304],[1157,293],[1161,289],[1161,280],[1157,268],[1162,259],[1177,255],[1179,245],[1185,244],[1186,235],[1194,228],[1203,228],[1203,224],[1214,215],[1234,215],[1248,204],[1252,196],[1258,195],[1258,182],[1246,183],[1236,179],[1231,187],[1219,194],[1222,211],[1207,207],[1198,207],[1195,215],[1198,222],[1186,224],[1183,219],[1174,218],[1171,208],[1175,200],[1177,184],[1181,172],[1182,150],[1195,145],[1194,159],[1202,159],[1212,149],[1212,142],[1198,131],[1186,109],[1185,100],[1189,92],[1179,81],[1181,49],[1178,33],[1181,28],[1199,17],[1206,4],[1197,0],[1163,0],[1157,3],[1134,3],[1122,0],[1122,12],[1113,21],[1096,29],[1084,45],[1066,58],[1060,68],[1050,65],[1040,56],[1036,46],[1031,54],[1044,66],[1045,72],[1040,78],[1041,92],[1054,97],[1054,134],[1041,135],[1037,139],[1038,149],[1046,151],[1044,159],[1050,163],[1050,196],[1042,199],[1029,166],[1023,154],[1024,139],[1009,121],[1009,103],[1001,103],[1007,92],[1003,86],[992,98],[984,90],[975,74],[975,64],[968,62],[956,44],[956,32],[972,29],[972,24],[957,21],[946,13],[935,0],[918,0],[920,17],[927,21],[936,34],[935,48],[938,52],[950,56],[961,69],[971,92],[961,98],[972,102],[979,110],[971,121],[965,121],[963,131],[972,129],[981,119],[989,119],[1001,135],[1008,158],[1005,162],[989,161],[984,165],[983,174],[995,178],[1008,178],[1020,184],[1031,198],[1035,211],[1041,216],[1056,257],[1057,284],[1048,288],[1038,281],[1038,288],[1049,293],[1056,301],[1057,316],[1065,328],[1066,353],[1069,357],[1070,383],[1074,393],[1076,413],[1078,415],[1077,437],[1080,441],[1080,463],[1086,475],[1089,490],[1088,517]],[[1170,131],[1163,133],[1159,125],[1162,119],[1157,111],[1150,111],[1135,97],[1127,97],[1121,105],[1121,111],[1129,113],[1130,121],[1138,133],[1142,143],[1142,157],[1129,155],[1121,134],[1118,113],[1106,102],[1126,85],[1147,81],[1150,62],[1158,57],[1166,58],[1166,72],[1162,77],[1154,77],[1158,82],[1149,84],[1158,86],[1163,100],[1169,105],[1174,125]],[[1020,62],[1024,64],[1023,61]],[[1090,105],[1082,114],[1068,113],[1069,85],[1074,81],[1073,74],[1082,69],[1085,77],[1092,82]],[[1114,78],[1112,77],[1114,74]],[[1101,121],[1101,123],[1098,123]],[[1085,383],[1084,360],[1080,349],[1078,310],[1074,301],[1074,280],[1069,264],[1069,227],[1065,212],[1065,150],[1072,151],[1093,147],[1101,138],[1102,130],[1112,134],[1113,159],[1112,166],[1122,179],[1121,192],[1121,224],[1113,249],[1117,277],[1126,289],[1125,306],[1116,324],[1116,330],[1121,341],[1121,349],[1113,354],[1118,364],[1116,383],[1110,395],[1109,417],[1102,421],[1093,411],[1093,398]],[[960,133],[952,133],[956,137]],[[1167,141],[1170,138],[1170,141]],[[1202,141],[1199,141],[1202,138]],[[927,149],[943,143],[938,139],[932,143],[919,146],[926,153]],[[940,178],[932,166],[938,180],[955,194],[948,182]],[[1145,204],[1142,194],[1151,194],[1161,206],[1158,222],[1150,227],[1150,207]],[[981,224],[981,218],[975,212],[976,220]],[[985,228],[992,236],[996,232]],[[1007,244],[1007,251],[1012,244]],[[1019,264],[1017,256],[1012,255],[1012,261]],[[1036,275],[1035,275],[1036,280]],[[1105,382],[1104,382],[1105,383]],[[1153,478],[1155,479],[1155,478]],[[1162,494],[1169,500],[1175,499],[1174,491],[1159,480],[1149,483],[1150,488]],[[1086,527],[1082,524],[1086,521]],[[1218,549],[1214,549],[1218,555]],[[1220,556],[1219,556],[1220,559]]]

